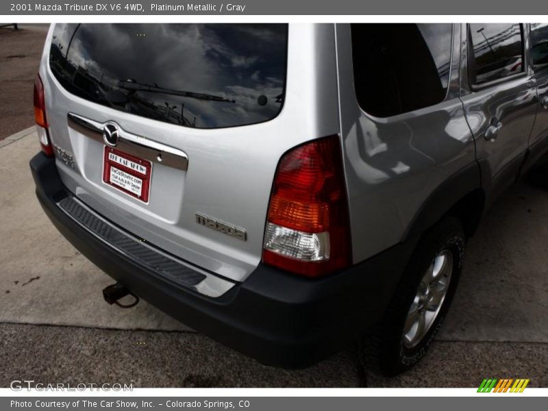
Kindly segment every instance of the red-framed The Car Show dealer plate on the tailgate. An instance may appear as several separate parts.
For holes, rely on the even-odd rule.
[[[103,153],[103,183],[148,204],[152,162],[106,145]]]

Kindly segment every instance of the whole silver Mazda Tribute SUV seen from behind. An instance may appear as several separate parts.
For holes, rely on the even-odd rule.
[[[548,26],[58,24],[36,193],[127,292],[257,358],[424,356],[548,149]]]

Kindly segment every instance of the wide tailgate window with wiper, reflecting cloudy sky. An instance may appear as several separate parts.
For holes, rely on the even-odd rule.
[[[282,110],[287,25],[57,24],[49,60],[94,103],[186,127],[249,125]]]

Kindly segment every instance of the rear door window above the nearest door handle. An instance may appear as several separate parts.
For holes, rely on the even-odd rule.
[[[520,24],[470,24],[469,39],[473,84],[484,84],[523,72]]]

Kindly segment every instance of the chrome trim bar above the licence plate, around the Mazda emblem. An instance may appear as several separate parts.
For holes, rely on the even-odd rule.
[[[66,120],[72,129],[103,144],[105,143],[103,140],[103,127],[107,124],[114,124],[119,128],[119,142],[116,149],[174,169],[182,171],[188,169],[188,155],[184,151],[128,133],[113,121],[99,123],[74,113],[66,114]]]

